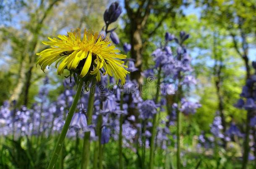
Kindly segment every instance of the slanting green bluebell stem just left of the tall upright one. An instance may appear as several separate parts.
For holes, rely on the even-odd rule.
[[[159,99],[160,80],[161,80],[161,66],[159,67],[158,75],[157,75],[157,93],[155,98],[156,103],[158,103],[158,99]],[[153,122],[152,122],[152,136],[150,139],[149,169],[154,168],[154,149],[155,149],[154,144],[155,144],[155,136],[157,132],[156,129],[157,129],[157,114],[154,114]]]

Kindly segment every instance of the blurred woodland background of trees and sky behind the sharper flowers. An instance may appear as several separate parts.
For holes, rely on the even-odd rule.
[[[76,28],[101,31],[105,25],[104,11],[113,2],[0,0],[0,168],[46,168],[57,135],[48,138],[48,134],[44,139],[40,139],[43,136],[38,133],[42,133],[47,126],[42,129],[39,127],[36,136],[21,134],[27,130],[22,128],[22,124],[16,126],[12,132],[7,131],[3,127],[8,123],[4,116],[7,116],[6,112],[11,114],[11,111],[20,114],[25,112],[25,115],[27,112],[26,116],[19,117],[23,118],[24,122],[36,110],[48,108],[48,113],[55,112],[54,108],[49,109],[49,105],[57,104],[60,96],[65,95],[65,98],[68,98],[67,90],[70,91],[71,88],[69,85],[63,85],[65,78],[57,76],[54,66],[47,68],[45,73],[39,66],[36,67],[36,53],[47,48],[41,41],[47,40],[48,36],[65,35]],[[141,73],[154,67],[152,52],[165,43],[166,32],[175,37],[180,35],[180,31],[189,34],[185,45],[192,58],[193,76],[196,77],[197,83],[185,90],[189,90],[187,97],[191,101],[199,102],[201,107],[195,114],[185,116],[185,121],[181,124],[182,166],[188,169],[199,165],[199,168],[241,168],[244,134],[248,124],[247,111],[234,105],[240,98],[246,79],[255,73],[252,61],[256,59],[256,2],[120,0],[118,3],[122,13],[118,20],[110,25],[109,30],[116,28],[115,33],[120,40],[116,46],[121,53],[124,53],[125,43],[131,44],[131,51],[127,55],[138,68],[131,73],[131,79],[138,83],[144,82]],[[67,80],[69,81],[69,78]],[[73,96],[72,92],[70,96]],[[152,99],[153,96],[152,93],[143,93],[141,97],[146,100]],[[173,103],[172,96],[166,96],[166,99],[168,108],[168,104]],[[42,103],[45,103],[45,106],[42,106]],[[42,119],[42,116],[45,118],[48,115],[38,114],[37,119]],[[215,148],[218,151],[216,160],[216,144],[211,138],[216,137],[212,124],[218,118],[221,121],[222,133],[228,135],[230,132],[230,135],[228,139],[220,137],[225,146],[222,143],[222,146]],[[52,120],[52,123],[55,121]],[[33,128],[27,127],[31,130]],[[52,125],[52,130],[58,133],[57,128],[57,124]],[[253,169],[256,164],[255,124],[250,132],[248,169]],[[175,140],[175,136],[168,137]],[[63,151],[64,164],[60,162],[57,167],[79,167],[78,156],[81,156],[79,147],[82,146],[82,139],[76,138],[78,136],[74,134],[66,140],[66,149]],[[170,146],[175,149],[175,141],[172,141]],[[127,149],[123,155],[125,168],[141,168],[136,146],[129,145]],[[175,151],[156,151],[156,168],[175,168],[175,162],[170,162],[175,161]],[[117,141],[104,145],[103,156],[104,168],[118,168]]]

